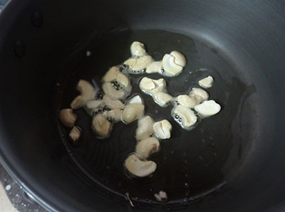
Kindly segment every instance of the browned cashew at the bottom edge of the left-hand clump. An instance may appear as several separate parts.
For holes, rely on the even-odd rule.
[[[93,132],[98,134],[99,137],[109,137],[110,131],[112,130],[111,123],[106,119],[105,115],[96,115],[92,120]]]

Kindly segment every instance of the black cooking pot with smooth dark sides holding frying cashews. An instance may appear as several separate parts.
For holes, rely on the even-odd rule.
[[[1,162],[51,211],[284,210],[284,8],[282,1],[10,1],[0,17]],[[185,131],[171,107],[140,92],[144,75],[135,75],[133,94],[144,98],[146,114],[173,127],[150,157],[157,171],[144,179],[123,168],[137,122],[115,124],[101,140],[91,117],[76,110],[78,145],[58,122],[78,80],[122,63],[133,41],[156,60],[185,54],[183,73],[165,78],[171,95],[212,75],[208,91],[222,105]],[[155,201],[160,190],[166,203]]]

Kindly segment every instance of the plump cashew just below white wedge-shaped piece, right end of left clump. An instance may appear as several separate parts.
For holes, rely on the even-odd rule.
[[[129,104],[125,107],[123,111],[122,120],[125,123],[130,123],[135,121],[138,117],[142,116],[145,112],[145,105],[134,103]]]

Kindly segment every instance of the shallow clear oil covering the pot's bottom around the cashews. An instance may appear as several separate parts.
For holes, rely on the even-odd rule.
[[[239,110],[239,103],[247,86],[241,83],[240,76],[217,51],[187,36],[166,31],[124,31],[100,43],[88,45],[92,53],[86,57],[81,51],[81,60],[73,67],[68,78],[66,89],[61,96],[61,105],[69,107],[78,92],[76,84],[79,79],[98,81],[113,65],[118,65],[130,57],[130,44],[133,41],[145,43],[147,52],[155,60],[161,60],[165,53],[180,51],[187,58],[183,73],[175,78],[165,78],[158,74],[147,75],[149,78],[165,78],[167,91],[172,96],[185,94],[192,87],[199,88],[198,80],[212,75],[214,85],[209,88],[209,99],[216,100],[222,106],[221,112],[202,120],[195,129],[182,129],[171,117],[172,106],[160,107],[152,97],[145,95],[138,88],[139,80],[144,75],[132,75],[132,93],[139,93],[145,101],[145,115],[155,121],[167,119],[172,124],[172,136],[160,144],[160,152],[153,154],[149,160],[157,163],[157,170],[152,176],[132,179],[125,174],[123,167],[125,158],[134,151],[135,129],[138,122],[114,124],[113,132],[108,139],[97,139],[91,129],[91,117],[81,109],[77,110],[76,125],[83,129],[83,137],[78,145],[73,146],[66,140],[71,149],[73,159],[81,170],[93,181],[116,194],[130,194],[135,203],[155,202],[154,194],[164,190],[168,195],[168,203],[186,204],[195,198],[214,191],[224,184],[227,175],[223,170],[235,164],[230,154],[239,145],[233,144],[232,122]],[[63,130],[65,131],[65,130]],[[68,131],[66,131],[68,134]],[[239,141],[237,134],[235,140]],[[243,154],[243,152],[239,152]]]

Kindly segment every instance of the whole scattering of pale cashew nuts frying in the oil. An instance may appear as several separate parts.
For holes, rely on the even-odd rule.
[[[132,43],[130,51],[132,58],[125,60],[122,65],[113,66],[103,76],[104,94],[97,95],[98,90],[95,90],[93,85],[86,80],[79,80],[77,90],[81,95],[71,102],[71,108],[61,110],[59,118],[64,126],[72,127],[69,135],[73,141],[81,137],[81,130],[74,126],[76,115],[73,110],[81,107],[93,117],[91,128],[100,138],[110,136],[115,122],[129,124],[138,120],[135,134],[138,144],[135,152],[125,159],[125,167],[133,176],[143,177],[155,171],[157,164],[147,159],[159,150],[160,139],[170,138],[172,125],[167,120],[155,122],[152,117],[144,116],[145,105],[139,95],[126,100],[132,90],[129,74],[160,73],[167,77],[177,76],[182,73],[186,59],[182,53],[172,51],[165,54],[161,61],[154,61],[145,51],[144,44],[138,41]],[[202,88],[210,88],[213,81],[213,78],[208,76],[199,80],[199,85]],[[217,114],[221,108],[214,100],[208,100],[208,93],[201,88],[192,88],[187,95],[172,97],[167,93],[166,83],[162,78],[142,78],[139,87],[142,92],[151,95],[160,107],[167,107],[172,103],[172,117],[184,129],[190,129],[197,122],[195,112],[206,117]],[[157,196],[160,197],[158,194]],[[160,198],[165,199],[164,194]]]

